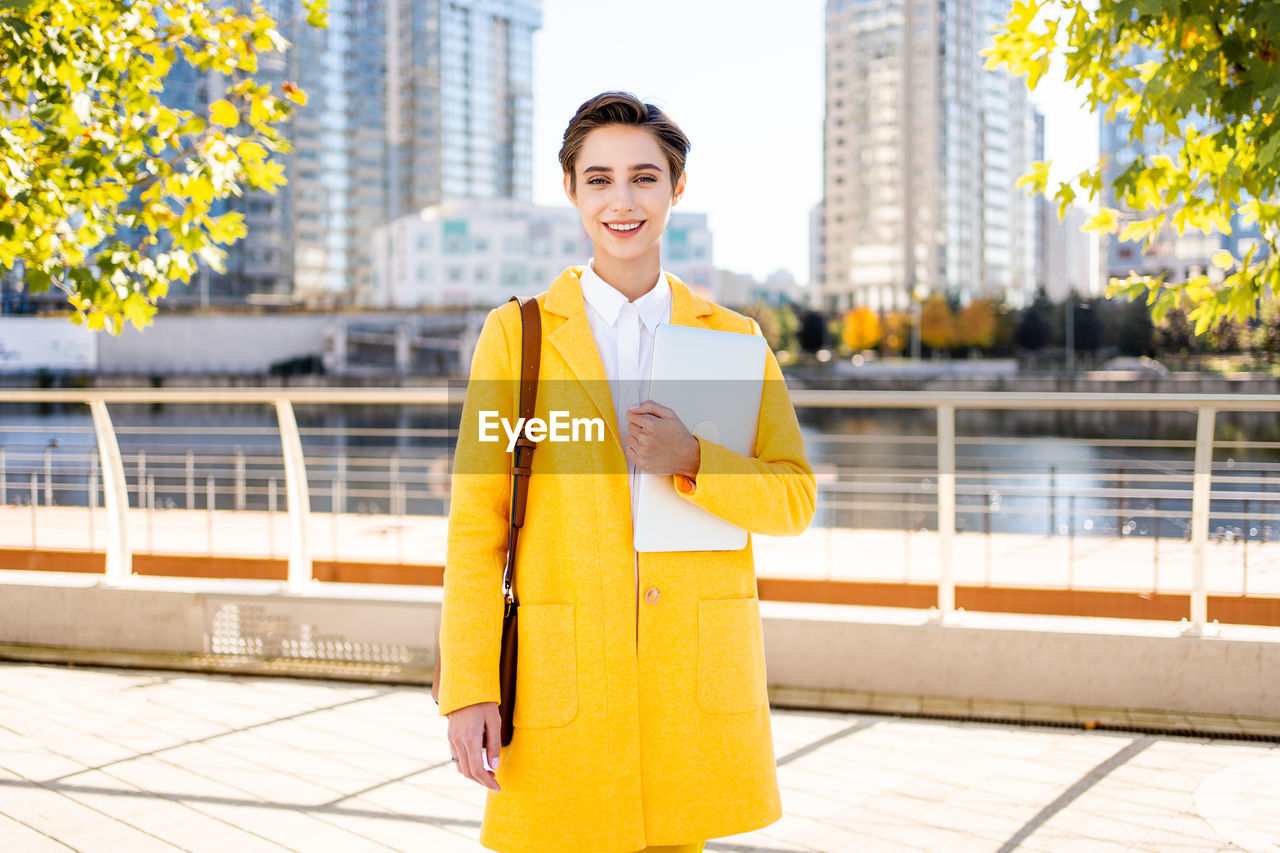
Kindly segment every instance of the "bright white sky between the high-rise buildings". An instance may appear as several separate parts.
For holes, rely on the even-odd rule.
[[[534,35],[534,201],[567,205],[557,160],[579,104],[659,105],[691,141],[678,210],[705,213],[721,269],[809,277],[822,197],[823,0],[543,0]],[[1097,158],[1097,120],[1065,83],[1032,92],[1053,174]]]

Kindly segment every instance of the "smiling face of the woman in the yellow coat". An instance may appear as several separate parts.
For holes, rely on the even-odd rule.
[[[602,264],[640,264],[653,265],[657,275],[662,233],[685,177],[672,187],[671,165],[653,133],[626,124],[596,128],[573,169],[573,181],[564,175],[564,193],[591,238],[596,272]]]

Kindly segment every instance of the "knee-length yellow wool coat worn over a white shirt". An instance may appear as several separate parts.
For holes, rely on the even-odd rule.
[[[580,275],[539,295],[535,415],[600,418],[604,441],[539,443],[516,561],[515,734],[480,841],[506,853],[631,853],[767,826],[782,816],[751,546],[639,556],[626,461]],[[759,334],[750,318],[668,275],[671,321]],[[500,585],[511,500],[507,441],[480,442],[479,412],[515,424],[520,310],[484,323],[452,482],[440,625],[440,713],[499,698]],[[754,456],[698,439],[696,485],[677,491],[749,532],[787,535],[815,485],[769,352]]]

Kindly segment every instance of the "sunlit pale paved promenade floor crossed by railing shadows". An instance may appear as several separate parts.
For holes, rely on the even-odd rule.
[[[1280,850],[1276,743],[773,724],[785,817],[709,852]],[[425,688],[0,663],[5,853],[479,853],[484,797]]]

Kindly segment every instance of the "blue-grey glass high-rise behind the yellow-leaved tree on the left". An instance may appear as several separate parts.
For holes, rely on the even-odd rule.
[[[264,58],[259,78],[293,81],[308,99],[287,131],[288,184],[229,200],[248,236],[227,272],[202,269],[172,293],[367,301],[378,225],[447,199],[530,199],[540,0],[330,0],[325,29],[306,23],[301,0],[266,5],[292,49]],[[169,102],[211,100],[205,79],[177,73]]]

